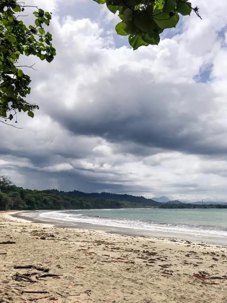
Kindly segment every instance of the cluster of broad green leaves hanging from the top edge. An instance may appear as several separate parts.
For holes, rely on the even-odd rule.
[[[133,49],[140,46],[158,45],[160,34],[166,28],[175,28],[179,14],[190,15],[193,10],[199,15],[197,6],[187,0],[94,0],[106,4],[115,14],[118,12],[120,22],[116,25],[118,35],[129,36],[129,44]]]

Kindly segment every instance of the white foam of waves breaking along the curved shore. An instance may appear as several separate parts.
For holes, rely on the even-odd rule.
[[[112,212],[122,213],[121,210],[105,209],[105,210],[73,210],[73,211],[44,211],[44,212],[29,212],[21,213],[23,216],[30,216],[40,220],[57,220],[69,223],[92,224],[99,226],[108,226],[114,228],[127,228],[131,230],[148,231],[163,234],[185,235],[198,239],[212,238],[212,239],[227,239],[227,228],[219,228],[217,226],[209,225],[193,225],[193,224],[176,224],[163,223],[148,220],[134,220],[129,218],[111,217]],[[135,211],[134,209],[124,209],[124,211]],[[147,211],[147,209],[146,209]],[[152,209],[152,211],[155,211]],[[89,212],[87,214],[86,212]],[[94,214],[92,214],[94,213]],[[98,213],[99,215],[96,215]],[[102,214],[105,214],[102,216]],[[108,214],[108,216],[107,216]]]

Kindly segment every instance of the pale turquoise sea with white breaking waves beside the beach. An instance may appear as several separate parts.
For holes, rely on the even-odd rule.
[[[35,221],[227,245],[227,209],[89,209],[20,213]]]

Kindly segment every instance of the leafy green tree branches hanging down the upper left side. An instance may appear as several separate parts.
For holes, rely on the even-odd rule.
[[[0,121],[3,123],[13,118],[17,123],[17,112],[21,111],[33,118],[33,111],[39,108],[25,100],[31,91],[31,79],[21,68],[33,68],[33,65],[19,65],[19,57],[34,55],[51,62],[56,55],[52,36],[45,31],[51,13],[34,6],[37,9],[33,13],[34,24],[27,27],[21,15],[26,15],[28,6],[17,0],[0,0],[0,118],[3,119]]]

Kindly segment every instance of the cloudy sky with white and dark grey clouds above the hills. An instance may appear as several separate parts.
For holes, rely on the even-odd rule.
[[[28,2],[27,2],[28,3]],[[227,201],[227,2],[200,8],[133,51],[92,0],[30,0],[52,12],[57,55],[35,63],[28,101],[0,127],[0,175],[30,189]],[[33,23],[28,8],[26,24]]]

